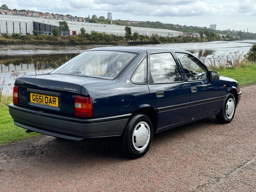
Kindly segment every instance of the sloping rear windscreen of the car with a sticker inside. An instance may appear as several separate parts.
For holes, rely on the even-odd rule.
[[[136,55],[136,53],[118,51],[87,51],[58,67],[52,73],[113,79]]]

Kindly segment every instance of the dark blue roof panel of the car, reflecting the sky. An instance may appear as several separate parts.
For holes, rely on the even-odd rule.
[[[174,48],[167,48],[167,47],[147,47],[147,46],[111,46],[111,47],[98,47],[91,50],[109,50],[109,51],[123,51],[123,52],[132,52],[132,53],[141,53],[144,51],[170,51],[173,52],[183,52],[183,53],[189,53],[182,49],[174,49]]]

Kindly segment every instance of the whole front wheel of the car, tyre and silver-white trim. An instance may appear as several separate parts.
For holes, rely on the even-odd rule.
[[[228,93],[221,111],[216,115],[219,123],[225,124],[232,121],[236,111],[236,100],[232,93]]]

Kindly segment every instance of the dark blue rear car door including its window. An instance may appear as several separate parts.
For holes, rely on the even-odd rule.
[[[158,129],[165,130],[186,119],[190,89],[171,52],[149,54],[148,58],[148,87],[158,111]]]

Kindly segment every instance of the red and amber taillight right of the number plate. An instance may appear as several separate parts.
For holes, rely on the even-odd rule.
[[[75,116],[93,117],[93,104],[91,98],[75,96]]]

